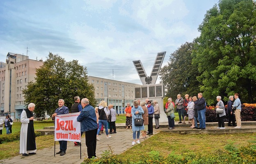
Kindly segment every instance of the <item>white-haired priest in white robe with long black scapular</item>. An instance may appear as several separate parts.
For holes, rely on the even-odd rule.
[[[36,136],[34,133],[34,103],[30,103],[21,113],[21,139],[20,139],[20,154],[23,156],[36,154]]]

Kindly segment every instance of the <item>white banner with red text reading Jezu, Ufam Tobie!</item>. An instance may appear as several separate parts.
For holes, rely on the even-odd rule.
[[[81,142],[81,125],[76,121],[79,114],[78,112],[55,116],[55,141]]]

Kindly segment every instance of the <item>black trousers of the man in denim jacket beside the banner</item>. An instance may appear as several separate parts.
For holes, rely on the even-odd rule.
[[[85,145],[87,147],[88,158],[96,157],[97,130],[94,129],[85,132]]]

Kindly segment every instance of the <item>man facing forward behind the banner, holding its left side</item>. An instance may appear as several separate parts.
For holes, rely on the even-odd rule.
[[[55,118],[55,116],[57,116],[57,115],[69,114],[69,108],[64,106],[64,103],[65,102],[63,99],[59,99],[59,101],[58,101],[59,107],[55,110],[55,112],[52,116],[53,118]],[[67,143],[68,143],[68,141],[59,141],[59,152],[56,154],[65,155]]]

